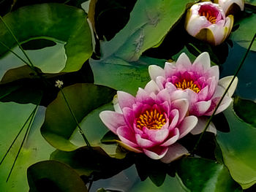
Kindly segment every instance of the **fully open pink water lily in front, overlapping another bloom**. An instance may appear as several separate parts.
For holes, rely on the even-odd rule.
[[[165,163],[188,153],[176,141],[195,127],[197,118],[187,115],[189,102],[183,91],[159,91],[150,81],[135,97],[123,91],[117,95],[117,111],[103,111],[99,117],[118,135],[121,146]]]

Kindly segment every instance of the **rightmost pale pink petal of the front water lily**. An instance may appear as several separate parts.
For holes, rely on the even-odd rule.
[[[187,135],[197,124],[197,117],[191,115],[184,118],[184,120],[181,122],[181,125],[178,127],[180,137],[184,137]]]

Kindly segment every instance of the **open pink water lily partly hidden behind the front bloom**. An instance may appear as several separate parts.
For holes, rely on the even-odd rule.
[[[189,100],[189,115],[197,117],[211,115],[222,97],[227,85],[233,76],[224,77],[219,80],[219,67],[211,66],[208,53],[201,53],[191,64],[185,53],[181,53],[178,60],[173,63],[165,63],[165,69],[160,66],[148,67],[151,80],[154,80],[159,90],[167,88],[172,94],[180,90],[187,93]],[[238,79],[236,78],[223,99],[217,113],[225,110],[231,103]],[[216,114],[217,114],[216,113]],[[192,133],[198,134],[203,130],[202,122],[205,118],[199,118],[199,122]],[[213,125],[212,125],[213,126]]]

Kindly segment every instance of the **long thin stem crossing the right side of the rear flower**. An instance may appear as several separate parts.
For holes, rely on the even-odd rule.
[[[225,92],[223,93],[221,99],[219,100],[217,106],[215,107],[214,112],[212,113],[211,117],[208,119],[208,121],[207,121],[207,123],[206,123],[206,127],[203,129],[202,134],[200,134],[200,137],[199,137],[199,139],[197,140],[197,143],[195,144],[195,147],[193,148],[193,150],[192,150],[192,152],[191,152],[192,154],[193,154],[193,153],[195,152],[195,150],[197,149],[197,146],[199,145],[200,140],[203,138],[203,134],[206,132],[206,129],[207,129],[208,126],[210,125],[212,118],[214,118],[214,115],[215,115],[215,113],[217,112],[217,110],[218,110],[218,108],[219,108],[219,105],[222,103],[222,101],[223,101],[225,95],[227,94],[227,91],[229,90],[230,86],[232,85],[233,81],[235,80],[236,76],[238,75],[238,72],[240,71],[241,67],[243,66],[244,61],[245,61],[245,59],[246,59],[246,57],[247,57],[247,55],[248,55],[248,53],[249,53],[249,50],[251,49],[252,44],[253,44],[253,42],[255,41],[255,38],[256,38],[256,34],[255,34],[255,36],[252,38],[252,41],[251,41],[251,43],[250,43],[248,49],[246,50],[246,53],[245,53],[245,55],[244,55],[243,60],[241,61],[241,64],[238,66],[238,69],[236,69],[236,72],[235,72],[235,74],[233,75],[232,80],[230,81],[230,83],[228,84],[227,88],[225,89]]]

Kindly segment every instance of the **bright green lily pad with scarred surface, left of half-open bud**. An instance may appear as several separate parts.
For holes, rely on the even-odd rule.
[[[137,61],[141,53],[157,45],[192,1],[138,0],[124,28],[109,42],[102,42],[102,59],[115,55]]]

